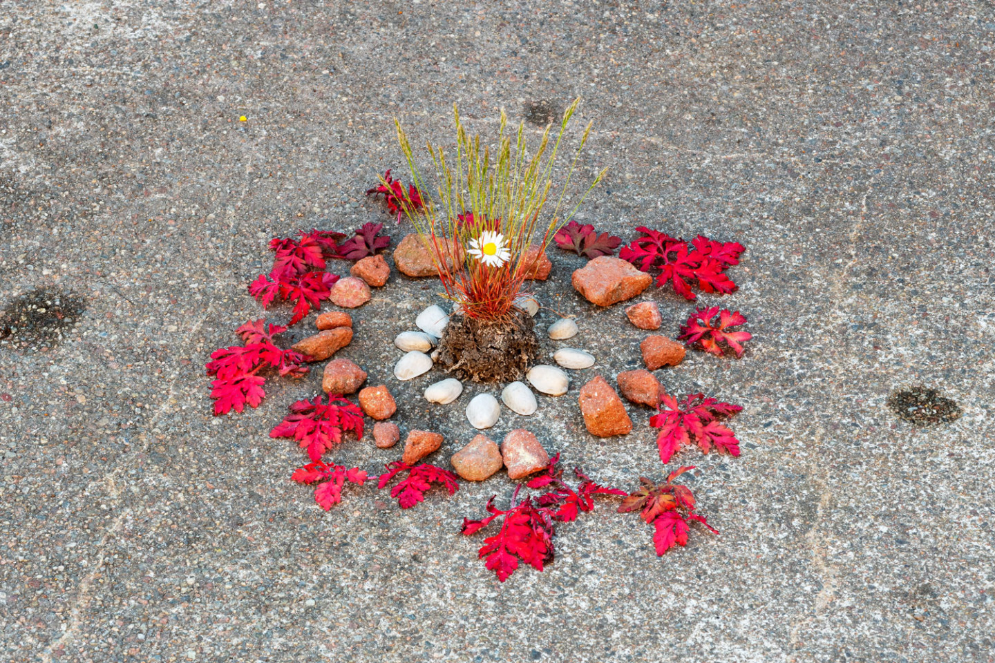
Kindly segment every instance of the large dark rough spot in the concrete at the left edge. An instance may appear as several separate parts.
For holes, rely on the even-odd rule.
[[[87,310],[85,297],[54,288],[37,288],[11,300],[0,311],[0,343],[22,348],[55,347]]]

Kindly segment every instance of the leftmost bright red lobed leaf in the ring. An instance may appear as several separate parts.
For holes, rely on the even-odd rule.
[[[211,353],[207,375],[211,382],[211,398],[215,400],[214,414],[228,414],[232,410],[243,412],[248,405],[257,408],[266,397],[263,385],[266,380],[257,375],[268,368],[277,369],[281,375],[299,377],[307,373],[304,356],[297,350],[284,350],[274,343],[275,334],[287,331],[280,325],[266,325],[263,319],[247,322],[238,328],[246,345],[233,345]]]

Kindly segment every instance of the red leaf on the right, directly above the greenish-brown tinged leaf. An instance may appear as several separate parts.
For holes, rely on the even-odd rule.
[[[660,459],[664,463],[670,462],[679,448],[692,441],[697,442],[704,453],[714,447],[719,453],[738,456],[739,440],[715,419],[740,410],[740,406],[705,398],[703,394],[691,394],[680,404],[674,397],[664,394],[660,398],[660,414],[650,417],[650,425],[660,428],[657,436]]]

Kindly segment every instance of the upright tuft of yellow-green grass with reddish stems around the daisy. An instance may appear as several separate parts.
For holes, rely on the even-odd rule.
[[[563,113],[559,133],[550,140],[552,124],[546,126],[538,148],[529,154],[524,124],[513,135],[507,130],[507,116],[500,113],[497,149],[492,153],[482,145],[479,134],[471,136],[453,104],[456,121],[456,152],[447,155],[442,147],[426,143],[435,174],[438,202],[426,195],[431,188],[421,175],[408,136],[395,119],[397,139],[411,171],[416,190],[422,192],[424,207],[411,204],[404,192],[404,212],[418,235],[433,253],[446,296],[459,303],[466,315],[481,320],[504,320],[535,260],[562,226],[569,223],[584,199],[605,176],[602,170],[569,207],[565,203],[577,160],[591,132],[587,124],[574,152],[561,186],[553,190],[556,156],[580,97]],[[555,198],[555,206],[548,211]],[[473,223],[463,221],[473,215]],[[510,258],[492,267],[467,255],[471,240],[485,230],[503,236]],[[528,249],[538,250],[529,254]],[[452,265],[452,266],[450,266]]]

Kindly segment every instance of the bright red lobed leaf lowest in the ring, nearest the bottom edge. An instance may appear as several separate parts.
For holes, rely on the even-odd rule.
[[[490,516],[481,520],[463,519],[461,531],[470,536],[502,517],[500,531],[484,540],[479,553],[480,558],[486,560],[485,566],[495,572],[501,582],[515,572],[519,561],[542,571],[553,560],[552,538],[556,532],[551,512],[537,507],[531,497],[518,502],[520,490],[519,484],[511,496],[511,506],[507,511],[497,509],[492,496],[486,507]]]

